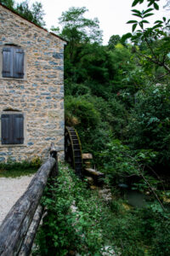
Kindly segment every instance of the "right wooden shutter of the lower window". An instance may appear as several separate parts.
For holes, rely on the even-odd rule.
[[[13,138],[14,144],[24,143],[24,116],[23,114],[13,114]]]

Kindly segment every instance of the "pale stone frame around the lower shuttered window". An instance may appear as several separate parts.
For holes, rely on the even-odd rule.
[[[2,114],[22,114],[24,118],[23,124],[23,134],[24,134],[24,142],[21,144],[3,144],[2,143]],[[0,113],[0,148],[9,148],[9,147],[26,147],[27,145],[27,136],[26,136],[26,113],[20,111],[3,111]]]

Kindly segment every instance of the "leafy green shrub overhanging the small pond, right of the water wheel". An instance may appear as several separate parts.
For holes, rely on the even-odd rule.
[[[100,161],[106,177],[111,184],[127,183],[131,177],[139,177],[136,185],[140,189],[148,186],[141,176],[149,178],[150,182],[156,186],[156,179],[150,177],[145,171],[144,166],[150,165],[156,154],[151,150],[133,151],[121,141],[111,139],[106,145],[106,149],[100,154]]]

